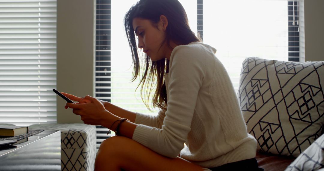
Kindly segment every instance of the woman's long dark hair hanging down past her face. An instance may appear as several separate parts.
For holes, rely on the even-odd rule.
[[[160,16],[164,15],[168,19],[166,28],[166,38],[163,43],[170,46],[170,41],[174,41],[178,45],[186,45],[194,41],[201,41],[200,37],[191,31],[189,27],[188,17],[178,0],[140,0],[133,5],[125,15],[125,31],[132,51],[133,58],[133,79],[140,76],[140,59],[136,45],[136,38],[133,29],[133,19],[148,19],[152,24],[157,24]],[[162,45],[161,45],[162,46]],[[149,56],[145,57],[145,67],[143,68],[143,76],[137,88],[141,87],[141,98],[146,107],[149,108],[149,99],[153,87],[156,86],[153,96],[153,107],[159,107],[162,110],[167,108],[167,91],[164,83],[164,74],[168,73],[169,61],[164,58],[159,61],[151,61]],[[146,84],[145,84],[146,82]],[[137,89],[136,88],[136,89]],[[146,97],[143,97],[143,89],[145,89]]]

